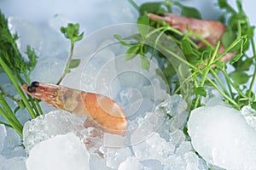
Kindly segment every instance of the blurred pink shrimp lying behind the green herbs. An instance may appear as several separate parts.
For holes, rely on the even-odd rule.
[[[221,40],[226,26],[221,22],[215,20],[198,20],[194,18],[188,18],[179,16],[177,14],[148,14],[150,20],[164,20],[169,26],[176,28],[178,31],[187,33],[189,30],[195,32],[199,36],[205,38],[207,42],[210,42],[212,46],[215,46],[218,41]],[[189,30],[188,30],[189,26]],[[192,37],[195,39],[195,37]],[[205,46],[203,42],[200,42],[199,47]],[[224,51],[224,46],[221,44],[218,53]],[[235,56],[236,53],[227,53],[222,60],[228,62]]]

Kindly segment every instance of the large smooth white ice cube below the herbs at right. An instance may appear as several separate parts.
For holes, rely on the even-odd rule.
[[[194,149],[210,164],[256,169],[256,131],[239,111],[216,105],[191,111],[188,132]]]

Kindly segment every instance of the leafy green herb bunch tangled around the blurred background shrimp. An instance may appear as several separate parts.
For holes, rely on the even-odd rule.
[[[134,2],[132,5],[137,6]],[[147,56],[148,52],[151,53],[151,57],[145,58],[144,60],[152,59],[152,57],[161,59],[164,55],[159,53],[160,47],[147,47],[144,43],[145,39],[150,38],[150,36],[154,34],[154,31],[160,31],[172,38],[172,41],[176,42],[178,47],[183,50],[183,54],[187,60],[181,58],[180,60],[185,65],[189,65],[191,75],[184,78],[183,82],[178,82],[176,78],[177,71],[173,69],[173,65],[168,59],[166,59],[166,64],[160,65],[160,67],[167,81],[170,83],[170,87],[173,87],[173,84],[175,85],[171,90],[171,94],[180,94],[184,84],[191,81],[194,82],[194,87],[192,87],[194,95],[187,99],[188,102],[192,99],[191,110],[203,105],[200,99],[201,97],[207,96],[208,86],[216,88],[224,97],[224,101],[237,110],[240,110],[244,105],[251,105],[256,109],[255,95],[252,91],[256,77],[256,54],[253,42],[254,26],[250,25],[248,17],[243,11],[241,1],[237,0],[236,5],[238,11],[232,8],[226,0],[218,0],[218,6],[224,10],[224,14],[220,17],[220,20],[227,25],[227,29],[224,32],[222,40],[218,42],[215,47],[213,47],[210,42],[207,42],[206,39],[192,31],[183,34],[172,26],[167,25],[164,21],[148,21],[148,13],[170,13],[172,12],[173,6],[180,8],[181,14],[184,16],[201,19],[201,14],[197,9],[186,7],[181,3],[171,2],[170,0],[166,0],[165,2],[143,3],[141,6],[137,6],[137,10],[141,15],[137,20],[139,34],[124,38],[118,35],[115,35],[115,37],[123,45],[129,47],[126,53],[127,55],[125,56],[126,60],[133,59],[137,54],[140,54],[140,56],[144,58],[144,56]],[[140,31],[141,25],[153,26],[155,30],[152,32],[146,31],[147,34],[145,34],[143,31]],[[160,36],[162,33],[160,33]],[[196,37],[207,46],[199,47],[196,42],[193,41],[192,37]],[[155,38],[155,44],[158,43],[159,38]],[[131,40],[139,41],[137,43],[129,43]],[[222,53],[218,54],[218,49],[221,45],[223,45],[225,49]],[[253,48],[253,56],[246,54],[250,46]],[[176,56],[172,53],[172,48],[169,50],[167,47],[162,48],[166,48],[166,52],[172,54],[173,57]],[[236,55],[226,64],[222,58],[228,53],[236,53]],[[178,59],[178,56],[176,57]],[[231,65],[235,71],[229,72],[227,65]],[[142,66],[148,69],[150,65],[145,65],[142,60]],[[253,75],[247,73],[250,67],[254,67]],[[223,80],[220,80],[218,77],[220,74],[224,76],[227,86],[225,86]],[[247,83],[250,84],[249,87],[246,86]]]

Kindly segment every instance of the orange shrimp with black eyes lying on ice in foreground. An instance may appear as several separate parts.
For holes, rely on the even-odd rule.
[[[123,136],[127,119],[120,105],[101,94],[93,94],[50,83],[32,82],[21,88],[26,94],[41,99],[57,109],[77,116],[88,116],[84,127],[100,127],[103,132]]]

